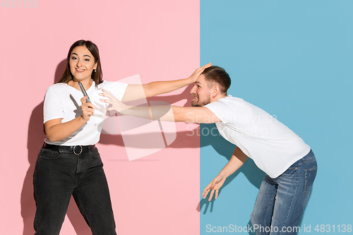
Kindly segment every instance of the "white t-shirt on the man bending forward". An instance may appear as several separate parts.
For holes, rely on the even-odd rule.
[[[310,146],[273,116],[241,98],[228,96],[205,105],[221,122],[220,134],[276,178],[310,152]]]

